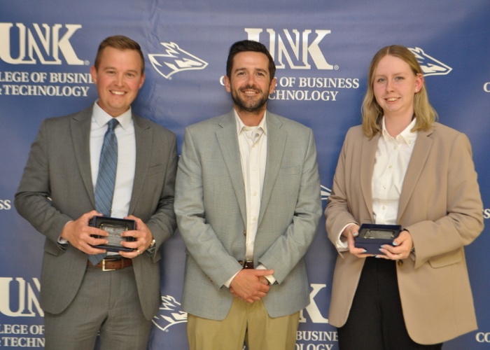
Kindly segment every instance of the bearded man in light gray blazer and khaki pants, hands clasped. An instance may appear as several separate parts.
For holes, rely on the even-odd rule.
[[[321,216],[313,132],[266,111],[264,45],[230,48],[234,109],[186,128],[175,211],[186,243],[190,349],[294,349],[309,304],[304,254]]]

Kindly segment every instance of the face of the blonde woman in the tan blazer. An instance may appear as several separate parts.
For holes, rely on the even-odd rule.
[[[379,61],[373,76],[373,92],[384,116],[412,118],[414,94],[423,85],[423,76],[415,74],[407,62],[386,55]]]

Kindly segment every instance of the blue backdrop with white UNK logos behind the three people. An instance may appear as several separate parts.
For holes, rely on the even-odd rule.
[[[440,122],[470,138],[488,223],[489,18],[488,0],[0,0],[0,346],[43,347],[44,237],[18,216],[13,197],[41,120],[96,99],[89,70],[104,38],[141,44],[146,82],[134,111],[176,132],[179,150],[184,127],[231,109],[222,80],[230,45],[267,45],[278,67],[268,107],[313,128],[324,206],[344,134],[360,123],[370,59],[405,45],[419,57]],[[479,329],[444,349],[490,346],[489,230],[466,248]],[[162,306],[148,348],[188,349],[179,233],[162,249]],[[328,323],[335,255],[322,223],[307,253],[311,304],[298,350],[338,349]]]

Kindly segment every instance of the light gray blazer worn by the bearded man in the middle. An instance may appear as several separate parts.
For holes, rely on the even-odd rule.
[[[182,306],[222,320],[233,296],[223,286],[245,258],[246,204],[233,111],[186,129],[175,211],[186,243]],[[253,261],[274,269],[279,284],[262,300],[272,317],[309,304],[303,256],[321,216],[313,132],[267,112],[267,164]]]

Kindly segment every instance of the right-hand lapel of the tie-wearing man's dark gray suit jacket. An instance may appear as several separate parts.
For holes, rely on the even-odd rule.
[[[138,116],[133,114],[134,138],[136,139],[136,169],[134,170],[133,190],[131,195],[129,214],[134,213],[139,196],[143,193],[143,186],[150,168],[151,148],[153,145],[153,130],[146,127]]]

